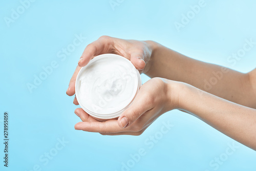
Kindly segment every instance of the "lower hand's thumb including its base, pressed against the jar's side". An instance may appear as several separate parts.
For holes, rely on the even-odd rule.
[[[132,105],[126,109],[118,118],[118,125],[122,128],[131,125],[146,111],[153,108],[153,98],[148,96],[148,93],[139,91]]]

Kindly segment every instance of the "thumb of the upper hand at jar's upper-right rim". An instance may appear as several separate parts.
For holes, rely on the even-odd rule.
[[[144,51],[141,50],[137,50],[131,54],[131,62],[137,70],[143,70],[146,65],[144,55]]]

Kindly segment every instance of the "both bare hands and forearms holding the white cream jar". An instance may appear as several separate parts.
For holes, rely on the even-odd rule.
[[[81,67],[104,53],[121,55],[152,79],[142,85],[133,104],[118,119],[98,121],[81,108],[76,130],[102,135],[141,135],[159,116],[178,109],[194,115],[234,140],[256,150],[256,69],[240,73],[231,69],[205,90],[204,80],[222,67],[170,50],[154,41],[101,36],[84,50],[70,80],[67,94],[75,94]],[[227,71],[227,70],[226,70]],[[74,104],[78,105],[76,97]]]

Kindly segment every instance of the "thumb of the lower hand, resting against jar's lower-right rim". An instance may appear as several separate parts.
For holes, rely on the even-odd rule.
[[[145,100],[142,98],[138,100],[135,98],[133,104],[119,116],[117,122],[120,127],[125,128],[131,125],[146,111],[150,110],[150,106],[144,104],[143,101]]]

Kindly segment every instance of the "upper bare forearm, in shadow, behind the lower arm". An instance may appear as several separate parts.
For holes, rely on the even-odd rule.
[[[229,101],[256,108],[248,74],[186,57],[153,41],[146,42],[153,49],[146,75],[186,82]]]

